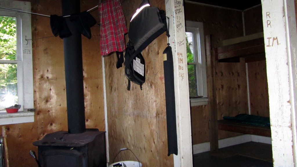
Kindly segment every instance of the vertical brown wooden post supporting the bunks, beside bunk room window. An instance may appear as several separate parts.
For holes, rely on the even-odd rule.
[[[216,67],[213,48],[213,36],[206,35],[206,74],[209,90],[209,130],[210,150],[217,152],[219,149],[217,126],[217,93],[216,93]]]

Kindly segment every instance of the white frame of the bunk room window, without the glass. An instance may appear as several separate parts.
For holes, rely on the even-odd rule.
[[[207,95],[207,81],[206,81],[206,54],[204,44],[203,23],[186,21],[186,32],[193,32],[193,52],[194,63],[188,63],[188,65],[196,65],[196,77],[197,77],[197,98],[190,98],[191,106],[206,105],[208,104]]]

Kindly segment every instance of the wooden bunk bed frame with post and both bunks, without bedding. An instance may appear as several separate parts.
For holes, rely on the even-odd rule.
[[[210,73],[208,73],[208,82],[212,87],[209,93],[211,97],[209,99],[211,151],[218,150],[218,130],[270,137],[270,126],[249,125],[224,119],[217,120],[215,62],[240,62],[241,60],[254,62],[265,60],[263,33],[223,40],[219,42],[217,48],[213,47],[213,41],[212,35],[206,36],[207,70],[210,71]]]

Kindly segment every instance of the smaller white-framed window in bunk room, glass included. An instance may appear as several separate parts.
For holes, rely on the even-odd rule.
[[[186,21],[186,44],[191,106],[208,103],[203,23]]]

